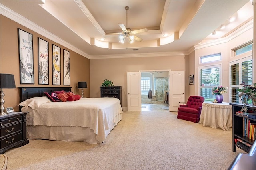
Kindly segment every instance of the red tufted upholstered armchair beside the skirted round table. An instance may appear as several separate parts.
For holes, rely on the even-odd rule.
[[[204,97],[190,96],[185,105],[178,108],[178,119],[184,119],[191,122],[199,122]]]

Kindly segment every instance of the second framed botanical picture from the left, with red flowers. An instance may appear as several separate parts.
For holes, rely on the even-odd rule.
[[[49,84],[49,42],[38,37],[38,84]]]

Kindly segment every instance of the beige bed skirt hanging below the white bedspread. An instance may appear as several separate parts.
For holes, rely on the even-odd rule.
[[[116,115],[114,121],[110,123],[111,127],[105,131],[106,136],[122,120],[122,114]],[[88,127],[56,127],[56,126],[27,126],[28,139],[48,139],[61,140],[66,142],[86,142],[89,144],[98,144],[97,134]],[[103,141],[102,141],[103,142]]]

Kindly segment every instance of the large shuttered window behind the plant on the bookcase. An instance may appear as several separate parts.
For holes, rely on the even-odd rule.
[[[242,88],[240,83],[252,84],[252,57],[246,57],[230,63],[230,98],[231,103],[240,103],[237,89]],[[252,103],[252,101],[249,101]]]

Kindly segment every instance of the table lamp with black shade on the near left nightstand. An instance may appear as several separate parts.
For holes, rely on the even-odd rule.
[[[0,115],[7,115],[8,113],[4,112],[4,91],[3,89],[14,89],[15,80],[13,74],[0,74],[0,97],[1,97],[1,113]]]

